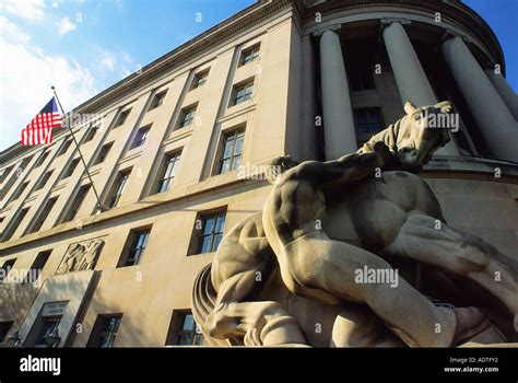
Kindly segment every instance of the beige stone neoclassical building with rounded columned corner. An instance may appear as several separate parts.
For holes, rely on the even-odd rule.
[[[495,34],[458,0],[258,1],[74,111],[102,117],[73,126],[90,175],[66,129],[1,153],[0,341],[201,344],[192,285],[261,210],[271,186],[250,173],[356,151],[407,100],[460,116],[422,173],[449,224],[515,255],[505,73]],[[332,323],[318,321],[301,325],[327,346]]]

